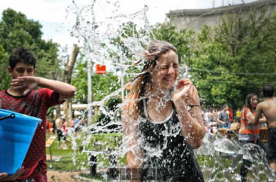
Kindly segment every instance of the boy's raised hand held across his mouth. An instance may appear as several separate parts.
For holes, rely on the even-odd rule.
[[[12,79],[12,83],[10,83],[15,90],[23,89],[23,95],[28,94],[34,88],[37,88],[39,85],[38,77],[18,77],[17,79]]]

